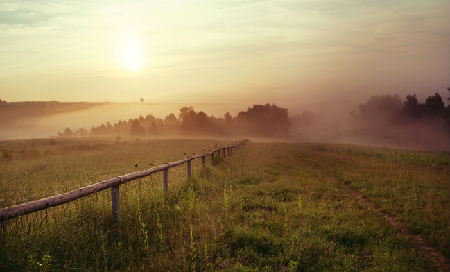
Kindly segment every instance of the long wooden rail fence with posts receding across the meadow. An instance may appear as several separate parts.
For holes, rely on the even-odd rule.
[[[191,177],[191,160],[196,160],[202,158],[202,166],[205,167],[205,157],[211,156],[211,164],[214,165],[214,153],[218,153],[223,155],[225,158],[225,150],[228,151],[228,155],[230,153],[234,153],[236,148],[243,144],[247,139],[242,140],[241,142],[234,144],[232,146],[226,146],[223,148],[218,148],[209,153],[203,153],[201,155],[196,155],[193,157],[184,158],[183,160],[178,160],[176,162],[168,162],[166,164],[159,165],[157,167],[152,167],[150,169],[135,171],[132,173],[127,173],[122,176],[116,176],[114,178],[109,178],[107,180],[103,180],[101,182],[97,182],[93,185],[88,185],[85,187],[81,187],[79,189],[75,189],[63,194],[58,194],[56,196],[50,196],[48,198],[42,198],[37,201],[31,201],[11,207],[5,207],[1,209],[0,212],[0,221],[6,221],[8,219],[13,219],[25,214],[30,214],[32,212],[37,212],[40,210],[47,209],[49,207],[55,207],[70,201],[75,201],[78,198],[82,198],[84,196],[89,196],[90,194],[95,194],[96,192],[103,191],[104,189],[111,188],[111,200],[112,200],[112,214],[116,221],[120,221],[121,212],[120,212],[120,201],[119,201],[119,185],[129,182],[131,180],[136,180],[138,178],[144,178],[146,176],[150,176],[153,173],[157,173],[159,171],[164,171],[164,190],[168,190],[168,169],[171,167],[176,167],[180,164],[187,163],[187,176]]]

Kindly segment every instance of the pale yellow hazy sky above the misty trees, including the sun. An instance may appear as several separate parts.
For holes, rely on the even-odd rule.
[[[448,0],[0,0],[0,99],[292,110],[447,97],[449,12]]]

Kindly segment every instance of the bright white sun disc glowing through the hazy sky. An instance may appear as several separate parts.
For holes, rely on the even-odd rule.
[[[146,66],[144,49],[137,42],[126,42],[119,47],[119,60],[128,71],[141,71]]]

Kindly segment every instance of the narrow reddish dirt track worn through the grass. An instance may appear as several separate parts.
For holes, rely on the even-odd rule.
[[[310,160],[307,160],[303,156],[298,156],[297,158],[300,158],[303,162],[306,162],[310,166],[322,167],[322,166],[320,166],[319,164],[317,164],[315,162],[311,162]],[[449,272],[450,271],[450,262],[449,262],[449,260],[446,257],[444,257],[444,255],[440,254],[438,252],[438,250],[436,250],[435,248],[433,248],[431,246],[427,246],[425,241],[424,241],[424,239],[422,239],[422,237],[420,237],[419,235],[415,235],[412,232],[410,232],[408,230],[408,228],[406,228],[406,226],[404,226],[404,224],[402,224],[400,221],[395,219],[395,217],[390,216],[387,212],[383,212],[379,207],[374,205],[374,203],[369,201],[367,198],[364,198],[358,191],[356,191],[355,189],[353,189],[349,185],[345,184],[345,182],[343,182],[343,180],[340,180],[338,177],[336,177],[334,175],[334,173],[331,173],[330,171],[328,171],[328,169],[325,170],[325,171],[327,171],[328,175],[331,178],[333,178],[334,180],[336,180],[336,182],[338,182],[338,184],[341,187],[346,189],[347,192],[351,196],[356,198],[356,200],[359,203],[369,207],[370,210],[373,210],[375,213],[379,214],[379,216],[382,216],[384,219],[386,219],[386,221],[390,224],[390,226],[392,226],[394,228],[397,228],[398,230],[401,230],[401,232],[404,235],[406,235],[408,237],[412,237],[417,242],[417,244],[418,244],[418,246],[420,248],[420,251],[422,252],[422,255],[424,255],[424,257],[428,258],[429,260],[431,260],[431,262],[433,262],[436,266],[438,266],[438,269],[440,271],[443,271],[443,272]]]

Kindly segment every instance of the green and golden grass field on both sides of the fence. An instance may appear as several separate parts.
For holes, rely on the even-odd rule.
[[[212,140],[0,142],[3,206],[232,143]],[[417,242],[349,185],[449,257],[448,153],[247,142],[193,163],[2,223],[0,271],[437,271]],[[135,164],[139,164],[135,167]]]

